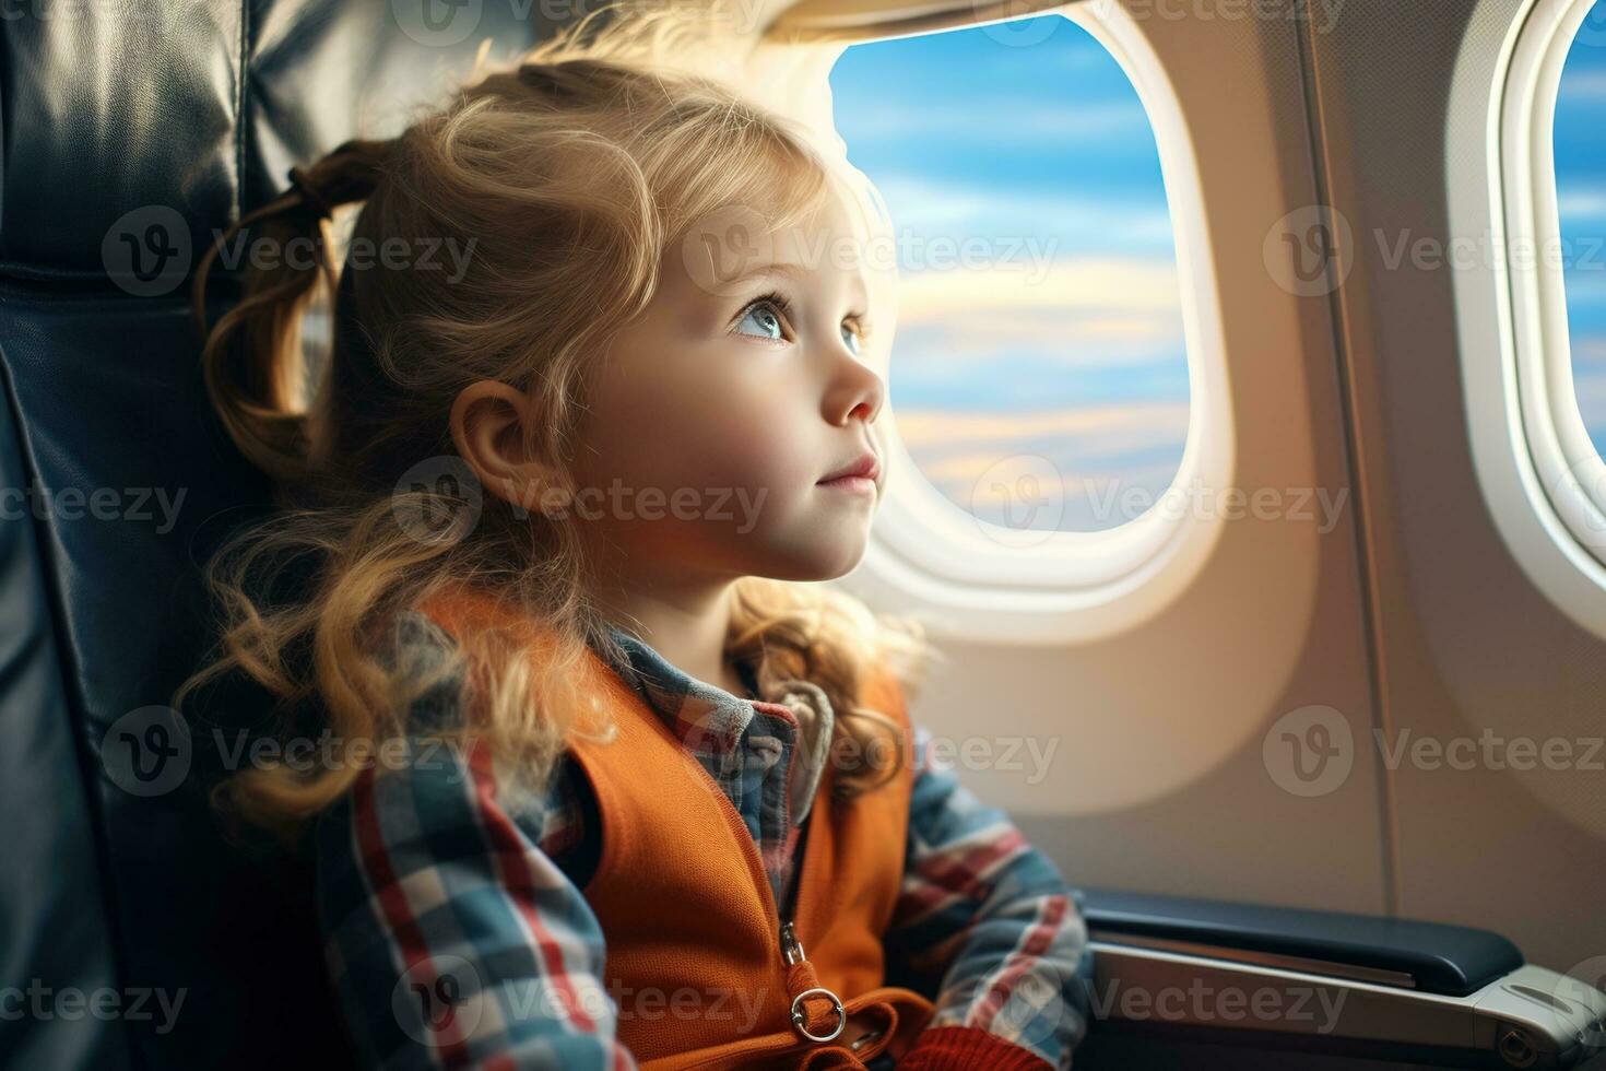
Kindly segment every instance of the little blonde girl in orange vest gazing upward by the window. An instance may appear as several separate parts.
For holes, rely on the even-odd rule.
[[[811,583],[885,483],[891,295],[842,255],[885,214],[602,11],[292,169],[210,331],[199,265],[283,509],[209,565],[180,702],[243,673],[324,745],[215,800],[310,853],[369,1066],[1066,1068],[1071,891],[912,726],[920,628]]]

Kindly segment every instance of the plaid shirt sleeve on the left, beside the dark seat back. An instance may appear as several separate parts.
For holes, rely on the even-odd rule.
[[[636,1068],[602,928],[543,848],[573,838],[565,800],[516,822],[482,748],[410,737],[318,819],[324,954],[363,1066]]]

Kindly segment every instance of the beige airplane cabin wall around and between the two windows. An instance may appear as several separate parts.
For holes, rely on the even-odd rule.
[[[1198,159],[1233,483],[1347,499],[1325,533],[1232,522],[1192,586],[1119,634],[938,636],[949,663],[917,719],[956,742],[1058,748],[1041,784],[959,776],[1073,883],[1487,926],[1556,970],[1606,952],[1606,777],[1571,772],[1558,806],[1543,779],[1569,774],[1384,761],[1400,734],[1600,732],[1601,639],[1526,580],[1474,478],[1450,271],[1389,267],[1400,234],[1447,236],[1450,79],[1463,40],[1494,67],[1519,3],[1347,0],[1331,21],[1320,3],[1306,19],[1126,3]],[[1354,236],[1331,294],[1267,246],[1320,204]],[[869,562],[843,583],[901,609]],[[1274,768],[1288,784],[1282,719],[1312,705],[1352,743],[1336,787],[1301,795]]]

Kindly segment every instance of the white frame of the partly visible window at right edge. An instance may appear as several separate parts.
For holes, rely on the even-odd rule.
[[[1567,336],[1553,122],[1561,72],[1593,0],[1526,0],[1492,71],[1468,34],[1452,87],[1445,183],[1453,238],[1498,254],[1453,273],[1473,467],[1529,580],[1606,636],[1606,462],[1595,451]],[[1458,170],[1455,161],[1481,169]],[[1539,254],[1539,255],[1535,255]]]

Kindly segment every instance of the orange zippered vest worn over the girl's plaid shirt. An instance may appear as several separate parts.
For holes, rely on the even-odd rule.
[[[495,605],[463,591],[422,610],[454,633],[490,621]],[[729,798],[596,652],[586,673],[618,732],[607,743],[569,740],[602,825],[602,856],[581,893],[602,926],[618,1039],[642,1071],[862,1068],[883,1050],[901,1057],[933,1012],[925,996],[882,984],[909,764],[838,806],[827,763],[803,830],[789,955],[758,845]],[[896,678],[874,678],[861,703],[898,723],[911,756]]]

